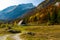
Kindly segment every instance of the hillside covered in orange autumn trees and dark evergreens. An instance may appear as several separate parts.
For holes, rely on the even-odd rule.
[[[59,0],[43,1],[31,12],[32,15],[24,19],[24,21],[27,24],[60,24],[59,2]]]

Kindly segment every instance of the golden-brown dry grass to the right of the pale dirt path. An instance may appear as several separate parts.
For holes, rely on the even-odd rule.
[[[29,35],[27,33],[20,35],[25,40],[60,40],[60,25],[28,26],[24,27],[24,30],[35,33],[35,35]]]

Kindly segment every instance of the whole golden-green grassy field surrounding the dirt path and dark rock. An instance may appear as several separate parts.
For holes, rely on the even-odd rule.
[[[17,26],[11,27],[12,30],[21,31],[19,37],[23,40],[60,40],[60,25],[51,26]],[[8,27],[0,28],[0,36],[14,34],[8,32]],[[18,33],[17,33],[18,34]],[[11,37],[7,37],[12,40]]]

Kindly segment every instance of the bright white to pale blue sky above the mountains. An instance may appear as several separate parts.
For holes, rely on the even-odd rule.
[[[42,1],[44,0],[0,0],[0,10],[3,10],[9,6],[27,3],[33,3],[33,5],[37,6]]]

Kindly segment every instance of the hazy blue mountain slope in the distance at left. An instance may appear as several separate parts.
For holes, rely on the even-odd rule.
[[[34,7],[35,6],[32,3],[8,7],[0,13],[0,20],[15,20],[21,17],[26,12],[29,12]]]

